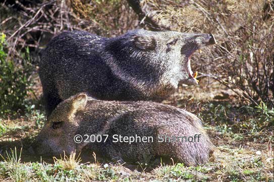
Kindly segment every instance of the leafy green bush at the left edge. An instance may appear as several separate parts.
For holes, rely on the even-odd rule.
[[[0,118],[25,109],[26,96],[32,81],[29,50],[20,56],[8,55],[6,35],[0,34]],[[15,60],[20,60],[18,63]]]

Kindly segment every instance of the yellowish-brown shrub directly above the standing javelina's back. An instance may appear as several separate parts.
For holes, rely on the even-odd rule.
[[[101,36],[113,36],[135,29],[137,15],[129,8],[126,0],[71,0],[73,12],[80,18],[88,20],[83,29],[92,27],[91,32]]]

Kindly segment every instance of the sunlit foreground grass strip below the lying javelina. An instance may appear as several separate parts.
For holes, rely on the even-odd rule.
[[[6,181],[273,181],[273,158],[269,154],[236,148],[228,145],[218,147],[220,156],[216,161],[197,167],[181,163],[154,168],[152,171],[128,170],[123,165],[80,163],[73,154],[71,158],[58,159],[54,164],[45,162],[21,162],[16,149],[0,162],[0,176]]]

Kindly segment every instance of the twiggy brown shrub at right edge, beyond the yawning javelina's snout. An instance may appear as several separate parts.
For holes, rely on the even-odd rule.
[[[269,3],[271,10],[273,5]],[[242,98],[256,105],[259,101],[273,105],[274,11],[264,13],[261,8],[257,14],[252,14],[252,9],[248,10],[243,16],[242,25],[234,32],[234,45],[225,43],[227,51],[223,49],[223,53],[219,52],[220,56],[224,56],[224,53],[234,55],[231,59],[220,61],[220,76],[216,79],[232,89],[236,88]],[[271,18],[265,20],[266,14],[271,14]]]

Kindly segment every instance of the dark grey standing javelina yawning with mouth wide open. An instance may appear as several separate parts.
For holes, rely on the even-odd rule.
[[[197,84],[192,54],[212,34],[133,30],[115,38],[84,31],[54,37],[41,52],[39,76],[47,115],[79,92],[101,100],[159,100],[179,83]]]

